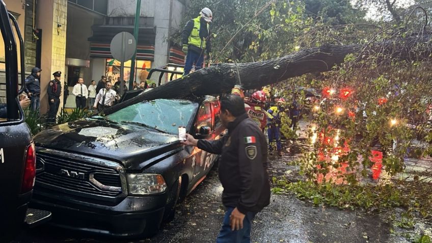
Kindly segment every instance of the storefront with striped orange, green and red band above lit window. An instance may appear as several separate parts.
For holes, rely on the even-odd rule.
[[[114,85],[120,78],[120,61],[113,59],[111,56],[110,44],[92,43],[90,45],[90,57],[93,78],[97,77],[100,79],[100,76],[104,75],[106,76],[107,80],[111,80]],[[137,46],[137,60],[135,64],[136,69],[135,77],[133,79],[136,83],[139,84],[141,80],[146,80],[153,61],[154,46]],[[130,66],[130,60],[124,63],[123,74],[124,80],[126,80],[126,82],[128,82],[130,79]],[[96,82],[98,80],[96,80]]]

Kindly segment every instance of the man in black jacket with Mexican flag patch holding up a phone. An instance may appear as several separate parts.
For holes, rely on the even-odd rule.
[[[251,242],[253,218],[270,202],[267,143],[240,96],[229,94],[221,99],[221,121],[228,128],[222,139],[196,140],[186,134],[182,143],[221,154],[219,178],[227,211],[216,242]]]

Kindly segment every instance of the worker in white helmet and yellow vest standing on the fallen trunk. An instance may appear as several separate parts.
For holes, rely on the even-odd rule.
[[[181,33],[183,52],[186,54],[183,75],[189,74],[192,65],[195,70],[201,69],[204,62],[204,50],[207,55],[211,53],[210,22],[213,17],[211,10],[203,8],[200,16],[187,21]]]

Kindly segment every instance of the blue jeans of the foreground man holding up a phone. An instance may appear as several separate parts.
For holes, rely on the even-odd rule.
[[[216,243],[250,243],[252,221],[254,220],[255,213],[248,212],[243,220],[243,228],[232,231],[230,226],[232,210],[234,210],[233,207],[228,207],[225,212],[224,222],[222,223],[222,228],[216,239]]]

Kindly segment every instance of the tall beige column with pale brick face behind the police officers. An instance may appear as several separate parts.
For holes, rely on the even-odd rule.
[[[42,29],[41,114],[45,114],[49,109],[46,91],[49,80],[54,78],[51,74],[65,73],[67,0],[38,1],[37,11],[37,27]],[[63,107],[63,92],[60,107]]]

